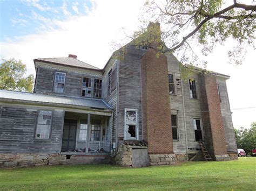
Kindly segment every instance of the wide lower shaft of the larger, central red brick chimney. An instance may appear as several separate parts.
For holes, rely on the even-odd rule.
[[[149,49],[142,57],[143,139],[149,154],[171,154],[172,129],[167,58]]]

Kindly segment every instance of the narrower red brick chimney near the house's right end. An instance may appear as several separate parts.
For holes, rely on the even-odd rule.
[[[215,160],[228,160],[216,77],[201,74],[200,83],[206,146]]]

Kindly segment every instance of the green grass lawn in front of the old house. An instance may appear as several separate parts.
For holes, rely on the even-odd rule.
[[[256,157],[226,162],[123,168],[67,165],[0,170],[0,190],[256,189]]]

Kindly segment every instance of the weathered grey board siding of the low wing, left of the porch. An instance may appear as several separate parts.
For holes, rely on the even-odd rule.
[[[62,143],[63,110],[53,110],[49,140],[35,139],[37,113],[41,108],[3,106],[0,116],[0,152],[59,153]]]

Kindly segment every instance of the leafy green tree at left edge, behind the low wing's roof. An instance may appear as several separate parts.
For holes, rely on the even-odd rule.
[[[33,75],[24,76],[26,65],[21,60],[4,60],[0,63],[0,89],[32,91],[34,77]]]

